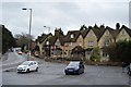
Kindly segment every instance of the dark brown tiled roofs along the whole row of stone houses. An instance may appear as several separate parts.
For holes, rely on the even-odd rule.
[[[120,30],[122,28],[124,28],[131,37],[131,29],[124,25],[122,25],[122,27],[120,29],[114,29],[108,26],[105,27],[104,25],[102,25],[100,27],[94,26],[94,27],[87,28],[85,25],[83,25],[83,26],[81,26],[80,30],[69,30],[67,35],[63,35],[62,30],[58,29],[58,30],[56,30],[55,36],[52,36],[50,34],[52,37],[49,38],[49,41],[50,41],[50,45],[55,45],[57,39],[59,39],[61,46],[63,46],[64,42],[75,42],[80,35],[82,35],[82,37],[85,38],[91,29],[96,35],[97,41],[99,41],[99,39],[103,37],[103,35],[106,30],[108,30],[111,34],[111,36],[114,37],[114,39],[116,39],[116,37],[118,36],[118,34],[120,33]],[[58,33],[58,32],[60,32],[60,33]],[[71,35],[73,35],[73,38],[71,38]],[[43,42],[47,37],[48,37],[48,35],[43,34],[41,36],[38,37],[37,40],[39,42]]]

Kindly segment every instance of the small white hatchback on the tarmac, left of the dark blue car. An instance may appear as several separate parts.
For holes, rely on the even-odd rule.
[[[17,73],[21,72],[31,72],[38,71],[38,63],[36,61],[25,61],[21,65],[17,66]]]

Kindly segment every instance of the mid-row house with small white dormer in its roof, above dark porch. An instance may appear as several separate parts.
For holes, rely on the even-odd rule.
[[[84,39],[80,30],[69,30],[64,38],[64,57],[70,58],[72,50],[78,46],[83,47],[83,44]]]

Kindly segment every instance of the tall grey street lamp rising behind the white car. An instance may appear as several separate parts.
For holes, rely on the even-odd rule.
[[[32,27],[32,9],[26,9],[26,8],[23,8],[22,10],[29,10],[29,32],[28,32],[28,35],[29,35],[29,39],[28,39],[28,57],[27,57],[27,60],[29,59],[29,54],[31,54],[31,27]]]

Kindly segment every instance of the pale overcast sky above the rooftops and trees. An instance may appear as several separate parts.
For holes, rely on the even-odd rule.
[[[3,0],[0,7],[1,24],[16,34],[28,34],[29,10],[33,10],[32,35],[34,38],[43,33],[55,32],[61,27],[64,34],[68,30],[78,30],[81,25],[116,27],[116,23],[129,27],[130,0]],[[47,26],[47,27],[44,27]]]

